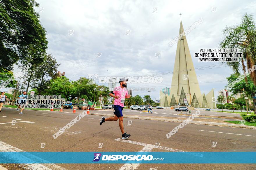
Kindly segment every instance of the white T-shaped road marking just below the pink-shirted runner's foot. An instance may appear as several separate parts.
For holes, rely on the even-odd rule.
[[[126,143],[131,143],[131,144],[144,146],[144,148],[142,150],[140,150],[139,152],[151,152],[152,149],[154,149],[154,148],[164,149],[164,150],[174,151],[174,152],[184,152],[184,151],[178,150],[178,149],[156,146],[156,145],[141,143],[141,142],[132,141],[132,140],[123,140],[123,139],[120,139],[120,138],[115,139],[115,140],[120,141],[120,142],[126,142]],[[119,170],[133,170],[133,169],[137,169],[139,165],[140,164],[124,164]]]

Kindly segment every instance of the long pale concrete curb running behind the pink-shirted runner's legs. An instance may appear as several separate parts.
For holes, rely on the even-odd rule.
[[[91,113],[91,115],[99,115],[99,116],[112,116],[113,114],[101,114],[101,113]],[[166,118],[152,118],[152,117],[140,117],[140,116],[124,116],[124,118],[132,118],[132,119],[145,119],[145,120],[159,120],[165,122],[179,122],[182,123],[184,120],[179,119],[166,119]],[[199,124],[199,125],[213,125],[213,126],[224,126],[224,127],[241,127],[247,129],[256,129],[256,126],[247,126],[247,125],[237,125],[237,124],[229,124],[229,123],[217,123],[217,122],[202,122],[202,121],[190,121],[191,124]]]

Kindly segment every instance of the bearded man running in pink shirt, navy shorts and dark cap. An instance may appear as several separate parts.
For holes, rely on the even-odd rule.
[[[127,139],[129,138],[131,135],[128,135],[125,133],[124,131],[124,125],[123,125],[123,108],[124,108],[124,103],[125,103],[125,98],[130,98],[130,95],[128,94],[128,91],[126,89],[127,84],[126,82],[128,81],[128,79],[125,78],[121,78],[119,80],[119,87],[115,87],[114,91],[111,91],[109,93],[109,96],[115,98],[114,101],[114,117],[110,117],[110,118],[104,118],[104,116],[102,116],[101,120],[100,120],[100,125],[102,125],[102,123],[104,123],[105,121],[117,121],[119,119],[119,127],[120,130],[122,132],[122,139]],[[115,94],[115,95],[114,95]]]

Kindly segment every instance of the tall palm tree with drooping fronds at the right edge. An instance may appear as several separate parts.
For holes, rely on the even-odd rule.
[[[256,26],[252,15],[245,14],[240,25],[226,28],[223,33],[226,36],[220,43],[221,48],[238,48],[243,53],[243,57],[239,59],[239,62],[228,62],[227,65],[237,74],[240,74],[239,70],[242,68],[243,74],[245,74],[246,66],[247,69],[252,69],[256,64]],[[250,77],[256,86],[256,71],[252,71]],[[245,81],[247,83],[246,77]],[[255,92],[252,96],[255,96]],[[253,103],[256,103],[255,98]],[[255,109],[254,111],[256,113]]]

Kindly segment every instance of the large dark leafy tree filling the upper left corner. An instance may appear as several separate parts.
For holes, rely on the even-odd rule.
[[[39,21],[34,0],[0,1],[0,67],[13,70],[29,51],[40,55],[47,49],[46,31]]]

